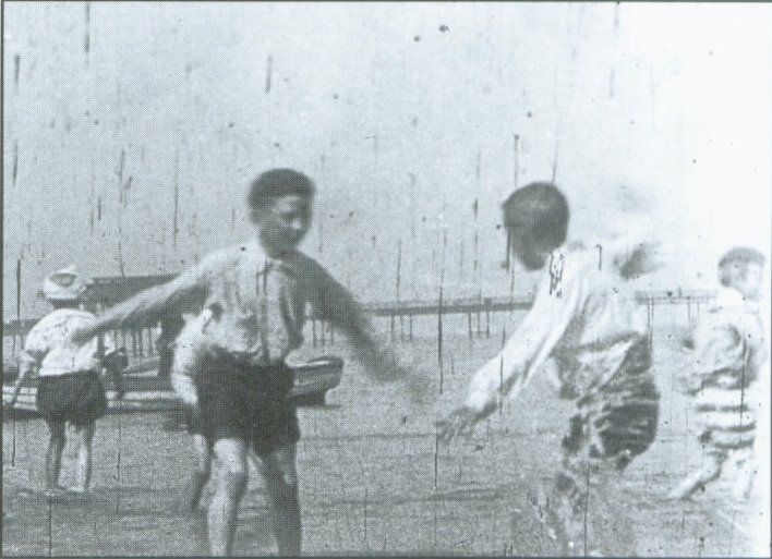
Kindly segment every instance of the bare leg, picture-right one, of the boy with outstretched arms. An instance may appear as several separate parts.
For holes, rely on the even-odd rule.
[[[302,542],[295,446],[261,455],[261,472],[273,508],[273,528],[279,556],[298,557]]]

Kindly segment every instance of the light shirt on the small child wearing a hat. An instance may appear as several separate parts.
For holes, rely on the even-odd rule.
[[[24,342],[21,362],[23,367],[37,368],[40,377],[69,375],[101,367],[98,340],[77,345],[69,339],[70,332],[93,324],[95,316],[85,311],[60,308],[37,323]],[[116,349],[112,339],[105,335],[104,353]]]

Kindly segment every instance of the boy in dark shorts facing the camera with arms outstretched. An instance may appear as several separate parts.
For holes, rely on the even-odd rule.
[[[189,349],[201,350],[195,374],[182,376],[176,389],[183,401],[197,406],[201,433],[213,442],[222,470],[208,513],[214,555],[231,554],[250,446],[261,458],[279,554],[300,554],[300,429],[289,398],[292,370],[285,360],[303,342],[306,303],[347,335],[376,379],[407,380],[417,396],[425,390],[425,381],[410,375],[376,341],[351,294],[297,248],[311,227],[313,196],[314,184],[302,173],[274,169],[261,174],[248,198],[253,239],[209,254],[177,279],[112,307],[75,335],[87,339],[116,326],[153,324],[196,308],[210,313]]]

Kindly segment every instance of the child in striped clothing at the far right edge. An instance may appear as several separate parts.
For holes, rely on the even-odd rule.
[[[746,499],[753,479],[756,437],[755,381],[767,357],[759,314],[764,257],[753,248],[727,252],[719,263],[721,290],[695,328],[693,359],[681,378],[684,391],[693,397],[693,415],[700,429],[702,465],[668,495],[687,499],[719,478],[723,466],[739,469],[734,497]]]

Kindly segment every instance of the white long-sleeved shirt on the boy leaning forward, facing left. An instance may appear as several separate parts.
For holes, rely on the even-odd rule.
[[[568,393],[582,398],[603,389],[649,332],[644,309],[620,277],[625,251],[616,248],[604,247],[603,260],[580,246],[553,251],[528,315],[472,378],[468,406],[482,412],[506,393],[514,398],[551,356]]]

